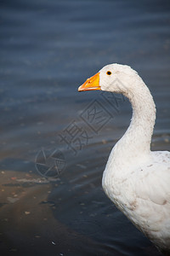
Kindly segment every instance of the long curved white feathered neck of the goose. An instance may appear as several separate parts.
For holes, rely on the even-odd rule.
[[[111,151],[108,165],[129,165],[150,154],[150,141],[156,119],[156,106],[150,90],[142,79],[137,79],[133,89],[124,92],[133,107],[133,117],[124,136]],[[123,167],[123,166],[122,166]]]

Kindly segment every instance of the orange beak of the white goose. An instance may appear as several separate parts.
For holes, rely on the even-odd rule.
[[[78,91],[82,90],[101,90],[99,86],[99,73],[96,73],[93,77],[87,79],[86,82],[78,88]]]

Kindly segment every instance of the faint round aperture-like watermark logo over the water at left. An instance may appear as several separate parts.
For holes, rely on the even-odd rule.
[[[58,177],[65,168],[65,156],[58,149],[41,149],[36,156],[37,172],[43,177]]]

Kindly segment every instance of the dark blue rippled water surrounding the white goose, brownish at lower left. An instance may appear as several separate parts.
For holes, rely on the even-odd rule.
[[[132,66],[156,101],[152,149],[170,150],[169,26],[169,1],[0,2],[2,255],[160,255],[101,188],[130,105],[77,87]]]

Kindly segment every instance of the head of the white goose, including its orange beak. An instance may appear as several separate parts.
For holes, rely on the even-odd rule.
[[[110,64],[103,67],[93,77],[87,79],[78,91],[106,90],[127,95],[134,90],[134,84],[139,79],[131,67],[120,64]],[[135,83],[134,83],[135,82]]]

